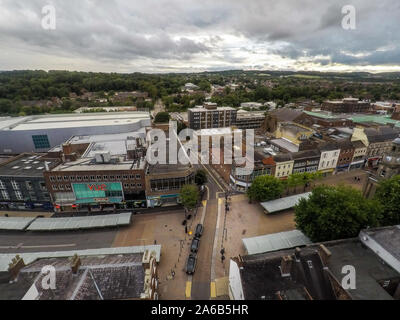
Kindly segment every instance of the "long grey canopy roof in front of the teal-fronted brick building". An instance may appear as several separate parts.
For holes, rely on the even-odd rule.
[[[105,228],[129,225],[132,213],[73,218],[41,218],[28,227],[28,231],[60,231]]]

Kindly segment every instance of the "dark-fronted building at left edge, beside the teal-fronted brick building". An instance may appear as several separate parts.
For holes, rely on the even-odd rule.
[[[61,161],[43,154],[21,154],[0,164],[0,208],[53,209],[43,172]]]

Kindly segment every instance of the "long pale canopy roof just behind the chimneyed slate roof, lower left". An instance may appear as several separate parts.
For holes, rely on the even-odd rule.
[[[150,245],[150,246],[136,246],[136,247],[121,247],[121,248],[104,248],[104,249],[89,249],[89,250],[75,250],[75,251],[55,251],[55,252],[37,252],[37,253],[8,253],[0,255],[0,272],[8,270],[8,265],[16,255],[19,255],[25,265],[28,265],[37,259],[46,258],[68,258],[73,257],[77,254],[80,257],[87,256],[102,256],[102,255],[113,255],[113,254],[133,254],[133,253],[144,253],[146,250],[156,253],[156,260],[160,262],[161,246]]]

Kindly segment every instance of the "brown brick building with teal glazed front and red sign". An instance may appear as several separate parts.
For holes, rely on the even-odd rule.
[[[78,136],[63,144],[63,162],[44,173],[57,211],[146,207],[144,133]]]

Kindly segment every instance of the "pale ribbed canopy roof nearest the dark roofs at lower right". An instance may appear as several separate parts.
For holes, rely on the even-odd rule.
[[[301,247],[312,243],[299,230],[246,238],[242,241],[249,255]]]

